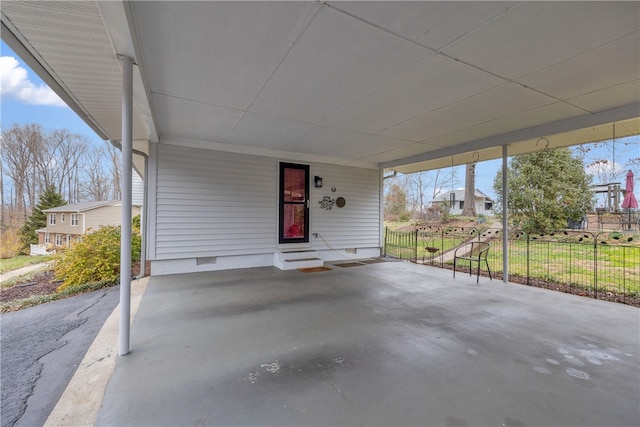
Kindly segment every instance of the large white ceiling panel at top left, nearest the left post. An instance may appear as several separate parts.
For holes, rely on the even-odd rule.
[[[151,90],[246,109],[306,20],[306,2],[137,2]]]

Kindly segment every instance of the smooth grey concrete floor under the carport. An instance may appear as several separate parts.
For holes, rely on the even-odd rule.
[[[640,310],[409,263],[152,277],[97,425],[631,426]]]

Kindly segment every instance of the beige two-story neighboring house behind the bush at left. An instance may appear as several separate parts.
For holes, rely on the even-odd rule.
[[[47,226],[36,230],[38,244],[46,247],[69,247],[74,239],[80,238],[91,229],[106,225],[120,225],[122,203],[118,200],[80,202],[73,205],[46,209]],[[134,206],[132,215],[140,213],[140,206]]]

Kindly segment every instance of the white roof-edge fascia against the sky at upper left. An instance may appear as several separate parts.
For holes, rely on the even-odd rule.
[[[11,21],[2,14],[2,40],[18,55],[98,136],[109,139],[107,133],[89,115],[71,93],[53,76],[49,68],[37,55],[35,49],[20,35]]]

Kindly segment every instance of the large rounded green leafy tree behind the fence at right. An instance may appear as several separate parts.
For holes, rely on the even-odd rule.
[[[593,207],[591,177],[568,148],[545,149],[514,157],[507,170],[508,210],[512,224],[525,232],[566,228]],[[502,206],[502,172],[494,179]]]

